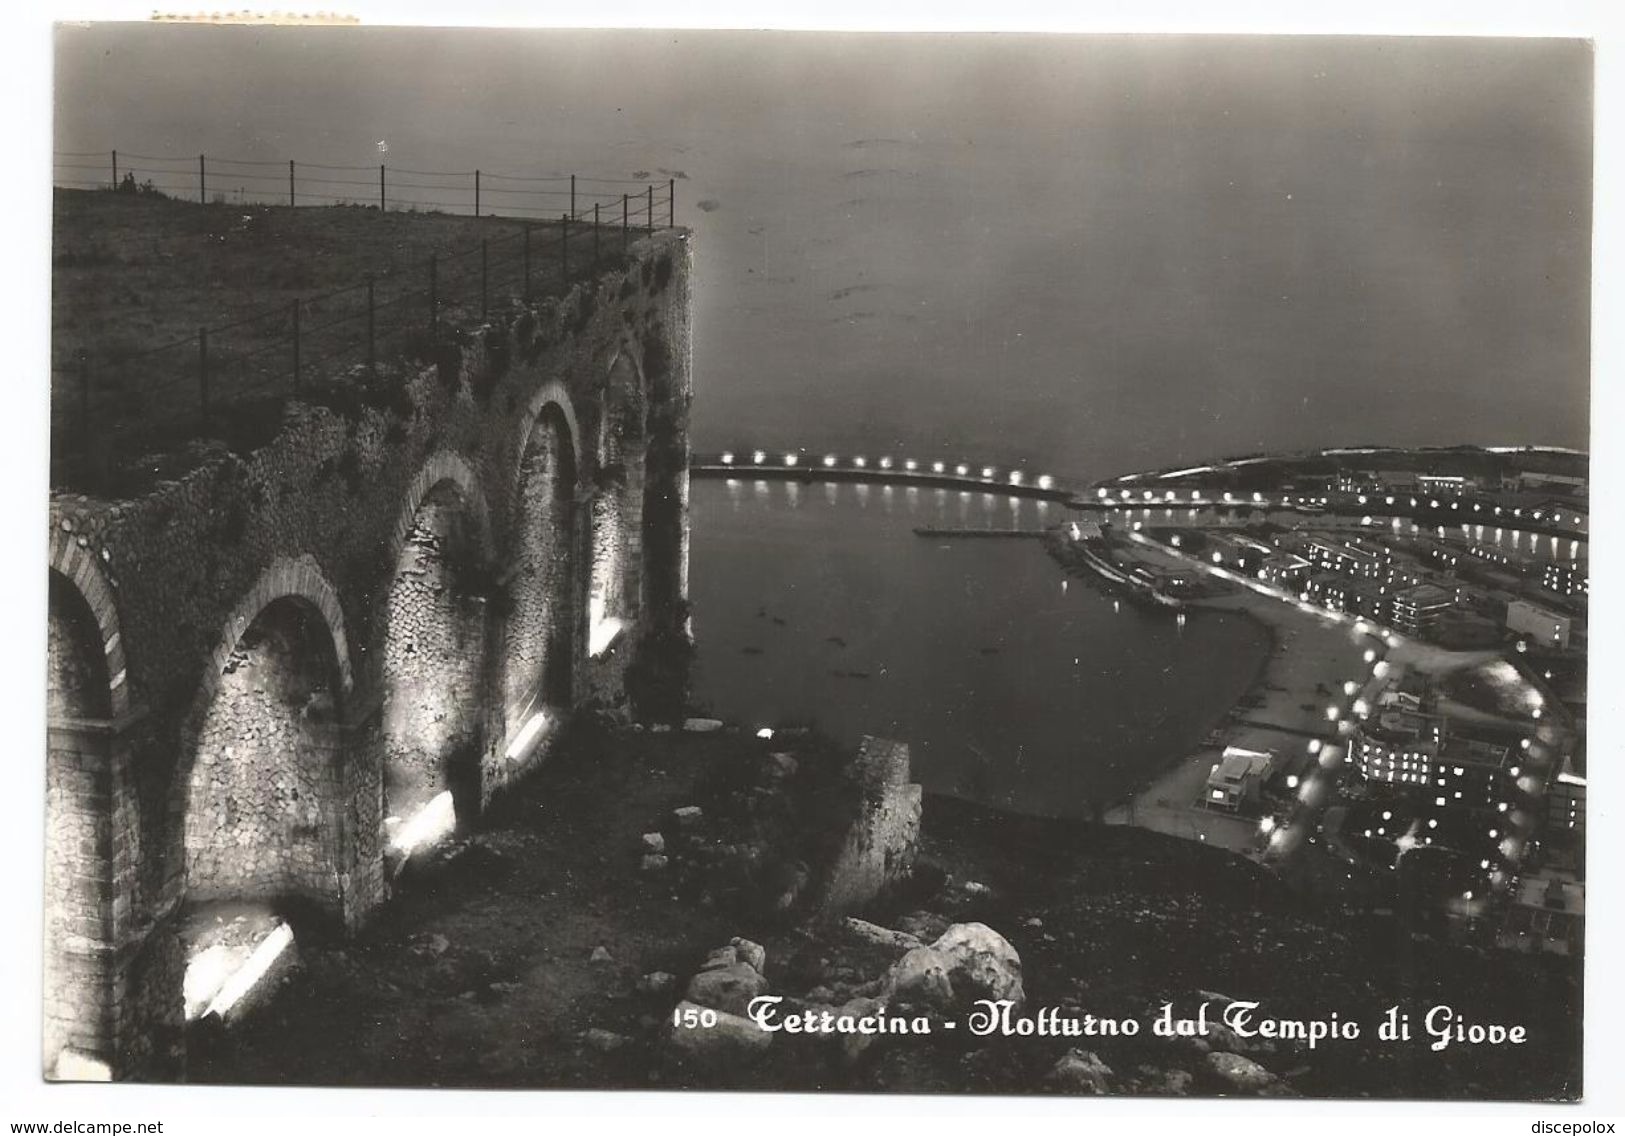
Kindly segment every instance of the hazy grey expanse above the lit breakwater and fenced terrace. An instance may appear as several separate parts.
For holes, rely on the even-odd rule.
[[[58,33],[57,148],[674,176],[699,447],[1105,476],[1586,445],[1591,62],[1578,41],[104,24]]]

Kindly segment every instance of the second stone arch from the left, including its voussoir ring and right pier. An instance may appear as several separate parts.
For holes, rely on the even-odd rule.
[[[228,616],[182,728],[166,853],[187,983],[242,946],[211,939],[216,905],[263,931],[349,923],[374,899],[380,790],[375,764],[348,761],[353,686],[338,593],[315,557],[278,559]]]

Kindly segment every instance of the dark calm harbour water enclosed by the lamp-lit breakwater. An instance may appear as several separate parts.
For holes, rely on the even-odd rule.
[[[697,697],[752,726],[913,748],[931,791],[1089,816],[1190,752],[1269,650],[1242,616],[1152,613],[1068,579],[1060,505],[834,483],[692,484]]]

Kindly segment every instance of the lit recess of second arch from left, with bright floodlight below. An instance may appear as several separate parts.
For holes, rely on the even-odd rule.
[[[340,660],[322,609],[270,601],[202,712],[184,827],[187,1017],[224,1017],[278,965],[297,925],[343,917]]]

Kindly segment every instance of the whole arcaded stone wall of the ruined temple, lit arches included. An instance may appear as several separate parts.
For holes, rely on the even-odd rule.
[[[176,1076],[188,912],[356,926],[390,817],[455,790],[468,821],[626,702],[637,644],[686,619],[689,336],[687,239],[658,234],[266,411],[263,445],[54,494],[47,1073]],[[595,579],[626,621],[596,657]]]

